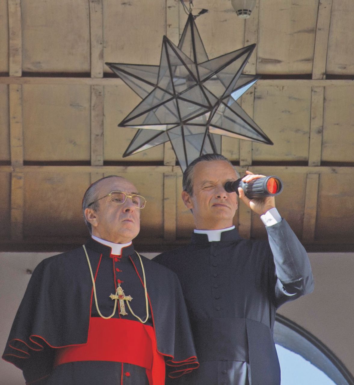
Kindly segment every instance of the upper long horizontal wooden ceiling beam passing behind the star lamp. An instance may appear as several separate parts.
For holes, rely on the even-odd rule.
[[[0,76],[0,84],[70,84],[70,85],[122,85],[119,77],[56,77],[31,76],[11,77]],[[325,87],[325,86],[354,86],[354,79],[259,79],[257,87]]]

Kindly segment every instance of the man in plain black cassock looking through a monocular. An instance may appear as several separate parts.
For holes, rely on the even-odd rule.
[[[247,171],[242,181],[252,185],[262,177]],[[237,194],[225,187],[237,179],[222,155],[195,159],[184,172],[182,192],[195,222],[191,243],[155,258],[179,276],[200,362],[175,384],[280,384],[276,310],[313,290],[306,251],[278,213],[274,196],[250,199],[238,188],[240,200],[260,215],[268,241],[239,236],[232,225]],[[277,180],[268,187],[282,188]]]

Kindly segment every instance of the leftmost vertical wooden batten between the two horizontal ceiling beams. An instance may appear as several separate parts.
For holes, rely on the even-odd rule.
[[[11,165],[23,165],[22,85],[9,85]]]

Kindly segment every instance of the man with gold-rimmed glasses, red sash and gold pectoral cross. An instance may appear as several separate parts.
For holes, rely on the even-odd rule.
[[[3,358],[36,385],[164,385],[198,367],[177,276],[132,244],[146,200],[119,176],[92,184],[92,238],[33,271]]]

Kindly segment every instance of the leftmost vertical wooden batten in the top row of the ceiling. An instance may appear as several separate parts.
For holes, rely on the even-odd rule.
[[[8,69],[10,76],[22,75],[21,0],[8,0]]]

